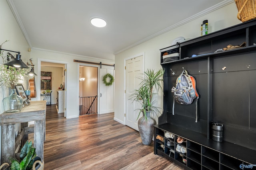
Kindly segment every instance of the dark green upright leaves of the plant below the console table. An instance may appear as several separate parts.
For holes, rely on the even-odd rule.
[[[31,170],[36,158],[36,148],[32,147],[32,141],[26,141],[20,151],[20,161],[8,157],[11,162],[10,170]]]

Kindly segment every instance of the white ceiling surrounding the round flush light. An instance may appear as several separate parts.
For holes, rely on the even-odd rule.
[[[8,0],[8,3],[30,48],[114,60],[115,54],[232,1]],[[94,17],[105,19],[106,27],[91,25],[90,19]]]

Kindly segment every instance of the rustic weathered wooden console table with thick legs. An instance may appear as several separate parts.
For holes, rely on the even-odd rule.
[[[15,124],[27,123],[28,121],[35,122],[34,147],[36,148],[36,154],[40,158],[44,158],[45,115],[46,101],[34,101],[23,107],[19,112],[4,112],[0,115],[0,125],[2,126],[2,163],[10,163],[8,156],[14,157],[16,148]],[[23,134],[25,134],[24,129],[21,131]]]

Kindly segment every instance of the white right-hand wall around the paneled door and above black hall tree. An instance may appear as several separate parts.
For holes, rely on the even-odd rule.
[[[241,23],[241,21],[236,18],[237,13],[236,4],[235,2],[232,2],[217,10],[209,12],[204,16],[190,20],[187,23],[154,37],[140,45],[117,54],[115,56],[115,119],[121,123],[124,122],[124,59],[139,53],[145,53],[145,70],[147,68],[161,68],[159,49],[171,46],[172,41],[176,37],[182,36],[186,39],[199,37],[200,26],[204,20],[208,20],[209,33]],[[161,108],[163,106],[162,95],[163,94],[161,93],[158,94],[158,96],[155,96],[155,99],[158,100],[158,107]]]

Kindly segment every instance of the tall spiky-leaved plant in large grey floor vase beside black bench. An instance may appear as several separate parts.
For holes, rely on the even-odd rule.
[[[144,72],[144,77],[140,77],[142,82],[139,85],[139,88],[134,90],[131,95],[133,102],[139,102],[141,108],[137,119],[140,116],[140,113],[143,116],[138,120],[138,129],[140,132],[140,137],[144,145],[150,145],[152,137],[154,134],[154,125],[156,121],[150,117],[150,113],[154,113],[158,116],[160,113],[160,108],[154,106],[156,101],[153,100],[154,90],[158,92],[159,90],[163,91],[161,82],[163,81],[164,69],[152,70],[148,69]]]

